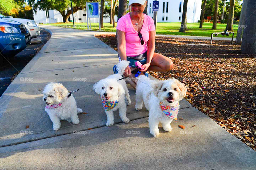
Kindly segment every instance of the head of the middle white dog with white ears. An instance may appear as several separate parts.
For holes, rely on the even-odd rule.
[[[93,90],[106,101],[115,101],[125,91],[115,79],[102,79],[93,85]]]

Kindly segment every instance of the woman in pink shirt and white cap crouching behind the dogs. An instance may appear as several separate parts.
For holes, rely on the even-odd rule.
[[[140,70],[145,75],[146,71],[169,71],[173,62],[162,54],[155,53],[155,25],[153,19],[144,14],[145,0],[130,0],[130,11],[117,22],[117,48],[119,60],[130,61],[130,67],[135,68],[135,62],[142,63],[144,69]],[[134,89],[136,79],[131,74],[128,66],[123,76],[131,78],[127,81]],[[115,72],[115,66],[113,68]]]

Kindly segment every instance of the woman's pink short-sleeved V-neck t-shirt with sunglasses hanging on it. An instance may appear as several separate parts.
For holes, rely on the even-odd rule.
[[[147,51],[147,41],[149,41],[149,31],[155,30],[154,20],[144,14],[144,22],[141,28],[141,34],[144,40],[144,44],[141,45],[141,41],[138,36],[138,32],[135,31],[131,23],[130,14],[122,16],[117,22],[117,29],[125,32],[126,43],[126,56],[137,56]]]

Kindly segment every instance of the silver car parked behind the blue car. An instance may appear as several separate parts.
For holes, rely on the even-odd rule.
[[[38,27],[38,24],[31,19],[24,19],[24,18],[12,18],[10,16],[4,16],[3,14],[0,14],[0,17],[2,19],[7,19],[11,21],[17,21],[25,25],[26,29],[29,31],[32,38],[35,38],[40,35],[40,27]]]

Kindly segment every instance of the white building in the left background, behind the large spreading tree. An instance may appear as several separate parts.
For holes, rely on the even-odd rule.
[[[46,10],[37,10],[37,13],[34,12],[34,20],[37,23],[48,24],[49,23],[56,23],[56,22],[63,22],[63,17],[57,10],[48,10],[48,15],[46,14]],[[74,14],[74,21],[75,22],[87,22],[86,18],[86,10],[78,10]],[[48,18],[49,16],[49,18]],[[72,14],[70,15],[70,20],[73,21]],[[91,18],[91,23],[98,23],[99,18]],[[110,22],[110,18],[107,16],[104,17],[103,22]],[[115,16],[115,22],[117,22],[117,16]]]

